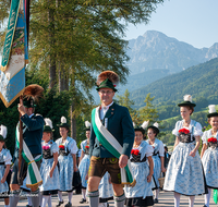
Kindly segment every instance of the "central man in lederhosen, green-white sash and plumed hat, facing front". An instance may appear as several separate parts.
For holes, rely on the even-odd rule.
[[[122,184],[133,185],[129,157],[134,142],[134,129],[129,110],[113,102],[118,75],[105,71],[98,76],[96,88],[101,106],[92,111],[89,138],[90,167],[88,171],[89,206],[99,203],[98,185],[108,171],[114,191],[116,207],[123,207],[125,196]]]

